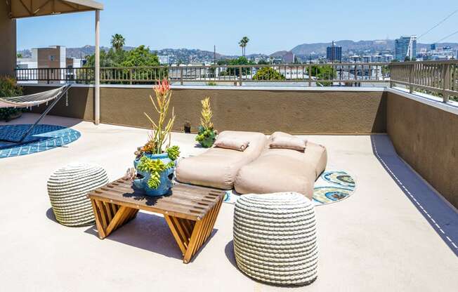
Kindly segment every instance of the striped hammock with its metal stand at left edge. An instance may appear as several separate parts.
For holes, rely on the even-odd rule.
[[[72,86],[72,84],[66,84],[65,86],[52,89],[51,91],[44,91],[41,93],[34,93],[30,95],[23,95],[23,96],[15,96],[11,98],[0,98],[0,108],[3,107],[33,107],[35,105],[41,105],[43,103],[48,104],[51,100],[53,102],[49,107],[44,110],[44,112],[41,114],[41,116],[38,118],[38,120],[30,126],[30,128],[25,131],[25,133],[21,136],[20,140],[2,140],[0,139],[0,142],[8,143],[8,144],[21,144],[27,135],[37,126],[37,124],[41,121],[41,119],[48,114],[50,110],[54,107],[56,103],[60,100],[60,98],[63,97],[63,95],[67,95],[68,89]],[[31,141],[27,141],[31,142]],[[7,147],[10,147],[11,145],[8,145]],[[0,146],[0,149],[4,148]]]

